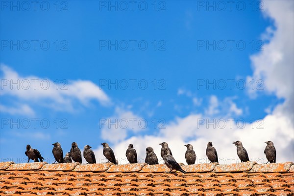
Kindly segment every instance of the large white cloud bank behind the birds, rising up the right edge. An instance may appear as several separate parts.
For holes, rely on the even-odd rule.
[[[233,102],[234,98],[220,101],[216,96],[211,96],[210,106],[204,114],[190,114],[184,118],[176,118],[159,133],[134,136],[114,145],[112,148],[119,159],[125,159],[125,150],[130,143],[134,144],[138,157],[145,158],[145,149],[151,146],[160,158],[158,144],[165,141],[169,143],[173,156],[178,162],[185,163],[186,147],[183,145],[186,143],[194,146],[197,163],[206,162],[207,160],[203,160],[206,159],[206,145],[212,141],[218,151],[221,164],[235,163],[238,156],[232,142],[240,140],[247,149],[249,158],[263,163],[267,162],[264,142],[271,140],[277,150],[277,162],[294,161],[294,1],[264,1],[264,3],[265,14],[274,20],[276,29],[267,28],[266,33],[262,35],[263,38],[269,39],[269,43],[264,45],[263,51],[250,57],[253,76],[248,76],[247,80],[263,79],[265,92],[284,98],[284,103],[273,108],[273,112],[264,119],[246,123],[244,126],[242,119],[229,120],[232,116],[243,114],[242,109]],[[185,93],[183,89],[177,92],[178,95]],[[250,95],[254,93],[250,92]],[[217,119],[213,119],[212,116],[215,115],[218,116]],[[203,123],[200,120],[204,120],[203,125],[199,125]],[[211,122],[212,124],[209,124]],[[226,125],[223,127],[221,123],[224,122]],[[214,128],[213,125],[216,127]],[[102,147],[97,149],[97,153],[103,157]]]

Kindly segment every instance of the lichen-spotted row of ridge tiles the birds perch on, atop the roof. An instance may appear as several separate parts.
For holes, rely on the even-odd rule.
[[[269,163],[257,164],[256,162],[244,162],[220,165],[219,163],[202,163],[195,165],[183,165],[187,173],[193,172],[294,172],[294,163]],[[64,171],[64,172],[169,172],[165,164],[147,165],[146,163],[114,165],[113,163],[79,164],[79,163],[14,163],[0,162],[0,171]]]

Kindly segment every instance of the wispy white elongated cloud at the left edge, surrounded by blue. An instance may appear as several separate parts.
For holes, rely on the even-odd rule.
[[[61,80],[56,82],[37,76],[22,77],[6,65],[1,65],[1,74],[1,97],[13,96],[19,99],[19,105],[26,105],[26,108],[16,109],[18,111],[26,109],[24,112],[32,113],[31,106],[29,106],[32,103],[60,111],[74,111],[75,101],[84,106],[88,106],[91,100],[97,100],[102,105],[111,103],[110,98],[103,90],[91,81]],[[8,108],[9,106],[4,107]],[[8,111],[4,110],[3,112]],[[14,113],[16,114],[16,112]]]

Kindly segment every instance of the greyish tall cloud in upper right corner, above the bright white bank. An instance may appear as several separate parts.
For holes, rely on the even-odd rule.
[[[284,112],[293,116],[294,110],[294,1],[265,1],[265,16],[273,19],[274,27],[268,27],[262,35],[269,43],[261,52],[250,56],[253,75],[247,77],[255,82],[264,81],[266,93],[273,93],[278,98],[285,98]],[[250,90],[256,96],[257,89]],[[293,117],[292,117],[293,118]]]

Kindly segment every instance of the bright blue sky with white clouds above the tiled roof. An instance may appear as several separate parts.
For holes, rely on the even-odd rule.
[[[191,143],[197,157],[206,158],[206,144],[213,139],[221,152],[231,151],[221,155],[224,159],[236,157],[231,144],[236,140],[255,160],[265,158],[264,142],[272,140],[280,161],[294,160],[279,147],[287,137],[294,151],[293,103],[287,105],[293,100],[293,72],[288,72],[293,34],[284,32],[293,32],[293,2],[240,1],[224,8],[219,1],[209,1],[211,6],[208,1],[138,1],[133,10],[128,1],[112,1],[114,6],[54,2],[40,1],[35,8],[23,1],[1,2],[1,161],[19,162],[30,144],[51,162],[56,141],[64,152],[73,141],[81,149],[90,145],[99,158],[102,142],[110,143],[118,158],[131,142],[139,157],[147,146],[160,148],[157,141],[171,148]],[[288,15],[281,11],[285,7]],[[31,79],[39,79],[36,89]],[[18,80],[20,89],[11,84]],[[24,89],[27,80],[31,86]],[[42,89],[42,81],[50,87]],[[234,128],[197,125],[199,119],[230,118]],[[36,126],[32,119],[38,119]],[[101,125],[104,119],[117,119],[118,127]],[[143,128],[137,123],[142,119],[148,123]],[[27,121],[30,125],[22,124]],[[48,128],[41,121],[49,122]],[[246,126],[236,127],[237,121]],[[256,129],[260,123],[262,130]],[[283,134],[281,123],[287,124]],[[221,147],[223,142],[227,145]],[[185,147],[178,150],[177,160],[184,162],[184,152]]]

